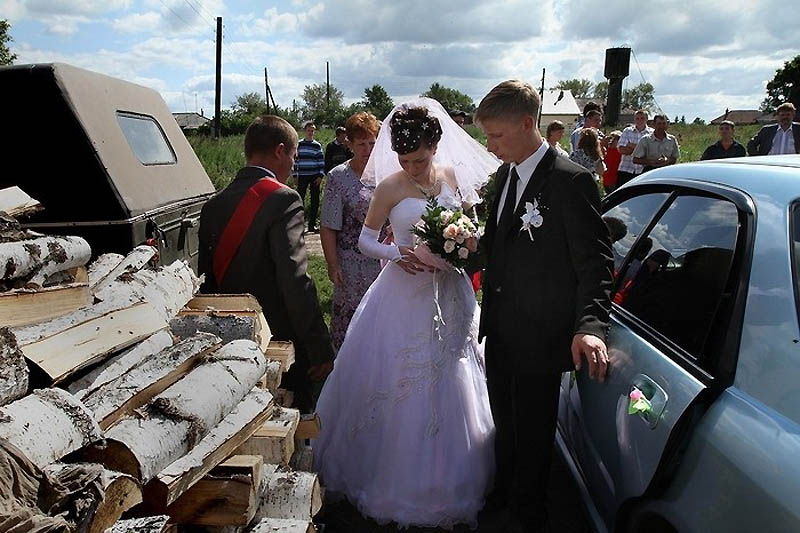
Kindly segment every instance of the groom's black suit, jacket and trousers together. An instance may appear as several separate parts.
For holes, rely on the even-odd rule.
[[[549,148],[511,223],[498,227],[508,175],[504,164],[481,239],[487,256],[480,336],[486,337],[497,429],[493,497],[508,500],[536,527],[546,517],[560,376],[574,368],[570,347],[576,333],[605,340],[613,264],[600,196],[586,169]],[[534,199],[544,220],[531,228],[531,240],[521,231],[520,217]]]

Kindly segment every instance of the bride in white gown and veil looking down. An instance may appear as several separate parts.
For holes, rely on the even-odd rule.
[[[479,201],[498,162],[435,100],[396,107],[363,179],[376,189],[359,239],[389,261],[356,310],[317,404],[314,463],[329,494],[380,523],[476,524],[494,474],[479,309],[464,274],[414,254],[427,199]],[[378,242],[386,220],[395,244]]]

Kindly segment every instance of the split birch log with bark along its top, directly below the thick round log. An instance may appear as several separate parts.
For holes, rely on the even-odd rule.
[[[194,483],[245,442],[272,414],[272,395],[255,388],[197,446],[145,486],[145,500],[156,512],[166,509]],[[244,454],[236,454],[244,455]],[[262,460],[263,461],[263,460]]]

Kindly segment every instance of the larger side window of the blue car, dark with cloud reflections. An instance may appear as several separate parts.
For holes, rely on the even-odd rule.
[[[679,196],[634,251],[614,300],[691,355],[702,355],[726,293],[739,232],[736,206]],[[647,248],[646,252],[644,248]]]

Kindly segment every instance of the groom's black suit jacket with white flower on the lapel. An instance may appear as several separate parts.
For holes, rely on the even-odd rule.
[[[498,228],[508,174],[508,164],[497,171],[497,195],[481,239],[486,274],[480,337],[498,336],[513,354],[506,363],[515,371],[567,371],[574,368],[572,337],[580,332],[605,340],[608,330],[613,262],[600,195],[586,169],[550,148],[512,223]],[[531,240],[521,216],[534,199],[544,221],[531,227]]]

